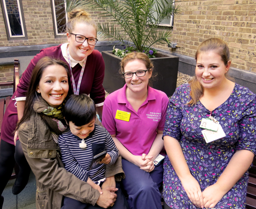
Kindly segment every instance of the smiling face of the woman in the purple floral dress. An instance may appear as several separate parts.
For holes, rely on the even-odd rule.
[[[225,65],[216,51],[199,53],[196,65],[197,80],[204,88],[220,87],[227,81],[225,74],[228,72],[230,63],[228,61]]]

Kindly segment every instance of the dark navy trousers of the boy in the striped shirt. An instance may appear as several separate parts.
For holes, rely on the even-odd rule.
[[[129,209],[128,203],[121,191],[120,188],[120,183],[116,182],[116,188],[118,190],[116,191],[117,194],[117,199],[115,201],[115,204],[112,207],[108,207],[111,209]],[[82,203],[78,200],[69,198],[69,197],[63,197],[63,205],[61,209],[70,209],[70,208],[75,208],[75,209],[103,209],[103,207],[98,206],[95,204],[94,206],[92,204],[86,204]]]

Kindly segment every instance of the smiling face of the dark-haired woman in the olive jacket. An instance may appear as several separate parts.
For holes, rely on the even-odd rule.
[[[36,91],[52,107],[59,107],[69,91],[68,74],[61,65],[50,65],[44,69]]]

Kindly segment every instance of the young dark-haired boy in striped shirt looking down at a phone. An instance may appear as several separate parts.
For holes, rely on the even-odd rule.
[[[65,104],[63,115],[70,127],[59,136],[65,169],[102,194],[100,186],[105,180],[105,164],[114,164],[118,157],[115,143],[105,128],[95,124],[96,107],[87,95],[72,95]],[[89,171],[93,156],[102,151],[107,152],[106,156]],[[65,197],[61,208],[77,209],[79,205],[87,208],[87,204]]]

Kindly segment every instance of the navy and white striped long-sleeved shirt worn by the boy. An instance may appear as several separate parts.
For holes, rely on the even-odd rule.
[[[58,143],[62,162],[65,169],[77,178],[87,181],[90,177],[92,181],[97,183],[98,180],[105,177],[105,164],[98,164],[92,170],[87,171],[93,156],[105,150],[111,156],[109,165],[112,165],[118,157],[118,149],[110,133],[97,124],[89,136],[84,138],[87,148],[81,149],[79,147],[81,141],[81,138],[72,134],[70,129],[59,136]]]

